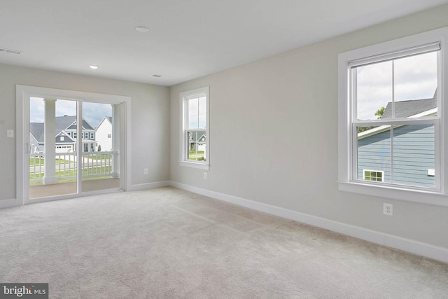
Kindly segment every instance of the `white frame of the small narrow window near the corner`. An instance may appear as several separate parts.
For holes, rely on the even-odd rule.
[[[205,131],[206,133],[206,155],[207,155],[207,159],[206,161],[192,161],[192,160],[188,160],[188,155],[187,155],[187,150],[186,148],[188,148],[188,138],[187,138],[187,130],[188,130],[188,116],[187,116],[187,106],[186,106],[186,102],[188,101],[188,99],[191,99],[193,97],[198,97],[198,96],[205,96],[206,97],[206,125],[204,129],[201,129],[200,131]],[[209,86],[206,86],[204,88],[197,88],[195,90],[188,90],[185,92],[181,92],[179,93],[179,99],[181,102],[181,140],[180,140],[180,161],[179,161],[179,165],[181,166],[186,166],[186,167],[193,167],[193,168],[198,168],[198,169],[204,169],[204,170],[209,170],[210,167],[210,146],[209,146],[209,140],[210,140],[210,135],[209,135],[209,123],[210,123],[210,118],[209,118],[209,111],[210,111],[210,88]]]

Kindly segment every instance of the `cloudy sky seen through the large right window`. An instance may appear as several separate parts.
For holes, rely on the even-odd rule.
[[[392,102],[431,99],[437,88],[437,53],[426,53],[357,68],[359,120],[375,120],[374,113]]]

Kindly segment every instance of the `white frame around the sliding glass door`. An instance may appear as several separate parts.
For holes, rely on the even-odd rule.
[[[78,101],[78,118],[83,102],[96,102],[103,104],[120,104],[120,188],[130,190],[131,157],[131,97],[123,95],[106,95],[93,92],[75,90],[61,90],[54,88],[41,88],[28,85],[15,86],[16,97],[16,202],[15,205],[62,200],[66,198],[81,197],[89,194],[107,193],[108,190],[94,191],[92,193],[76,193],[43,197],[29,200],[29,167],[25,158],[29,151],[29,99],[42,97],[52,99],[68,99]],[[79,160],[80,161],[80,160]],[[80,182],[78,182],[80,183]],[[82,191],[82,190],[81,190]],[[110,191],[109,191],[110,192]]]

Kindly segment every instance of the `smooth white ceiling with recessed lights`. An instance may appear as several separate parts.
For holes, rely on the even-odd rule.
[[[0,63],[174,85],[447,3],[0,0]]]

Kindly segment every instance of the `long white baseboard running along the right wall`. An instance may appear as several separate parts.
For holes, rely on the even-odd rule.
[[[275,207],[270,204],[263,204],[261,202],[254,202],[253,200],[245,200],[241,197],[227,195],[223,193],[214,192],[194,186],[189,186],[183,183],[177,183],[170,181],[169,186],[173,186],[179,189],[187,190],[193,193],[198,193],[208,197],[216,198],[217,200],[223,200],[232,204],[237,204],[249,209],[255,209],[275,216],[291,219],[294,221],[307,223],[309,225],[317,226],[318,228],[325,228],[326,230],[332,230],[333,232],[339,232],[343,235],[349,235],[358,239],[364,239],[369,242],[389,246],[402,251],[415,253],[420,256],[426,256],[427,258],[433,258],[440,260],[444,263],[448,263],[448,249],[440,246],[433,246],[423,242],[414,241],[412,239],[405,239],[394,235],[388,235],[384,232],[377,232],[375,230],[368,230],[355,225],[349,225],[329,219],[313,216],[309,214],[300,213],[290,209],[283,209],[281,207]]]

